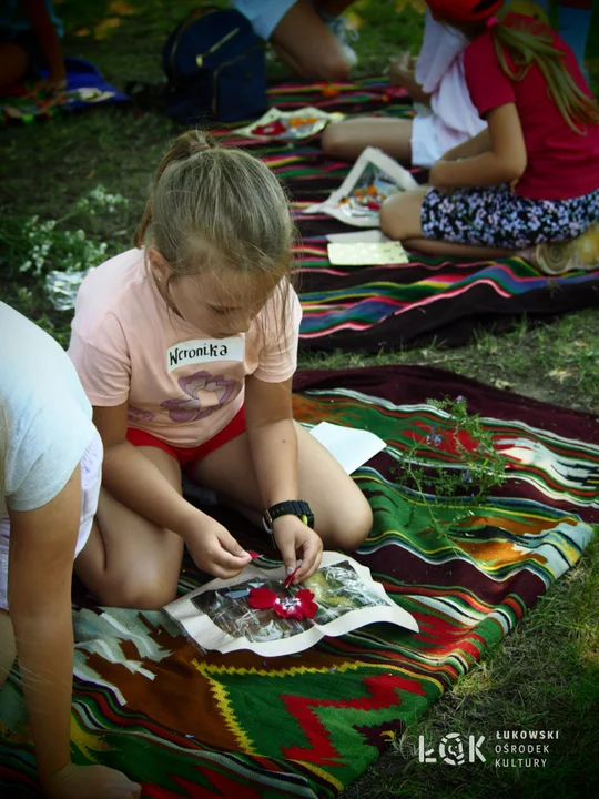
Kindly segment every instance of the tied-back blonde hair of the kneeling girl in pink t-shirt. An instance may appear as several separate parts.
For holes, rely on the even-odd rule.
[[[179,135],[156,170],[135,246],[154,245],[172,277],[227,266],[288,282],[294,226],[271,170],[199,130]]]

